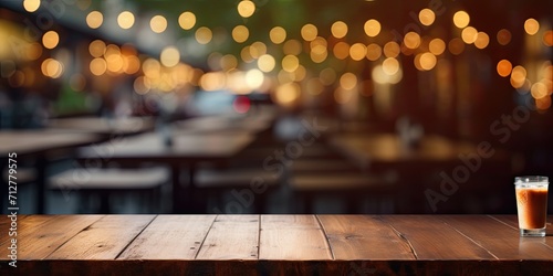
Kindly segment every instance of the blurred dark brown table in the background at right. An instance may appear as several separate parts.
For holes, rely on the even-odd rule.
[[[328,144],[362,169],[397,171],[404,185],[398,193],[414,201],[406,202],[404,212],[425,212],[425,182],[438,173],[452,179],[453,173],[469,179],[477,173],[510,177],[510,153],[487,141],[473,144],[428,135],[416,145],[407,145],[394,134],[342,134],[331,136]],[[499,177],[495,180],[501,182]],[[439,184],[435,189],[439,191]]]

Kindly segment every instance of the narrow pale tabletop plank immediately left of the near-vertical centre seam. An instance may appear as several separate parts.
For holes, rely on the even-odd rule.
[[[257,259],[260,215],[219,215],[197,259]]]

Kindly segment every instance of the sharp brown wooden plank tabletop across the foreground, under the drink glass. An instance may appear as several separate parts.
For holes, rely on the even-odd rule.
[[[549,222],[522,238],[515,215],[20,215],[18,262],[61,275],[551,275]]]

